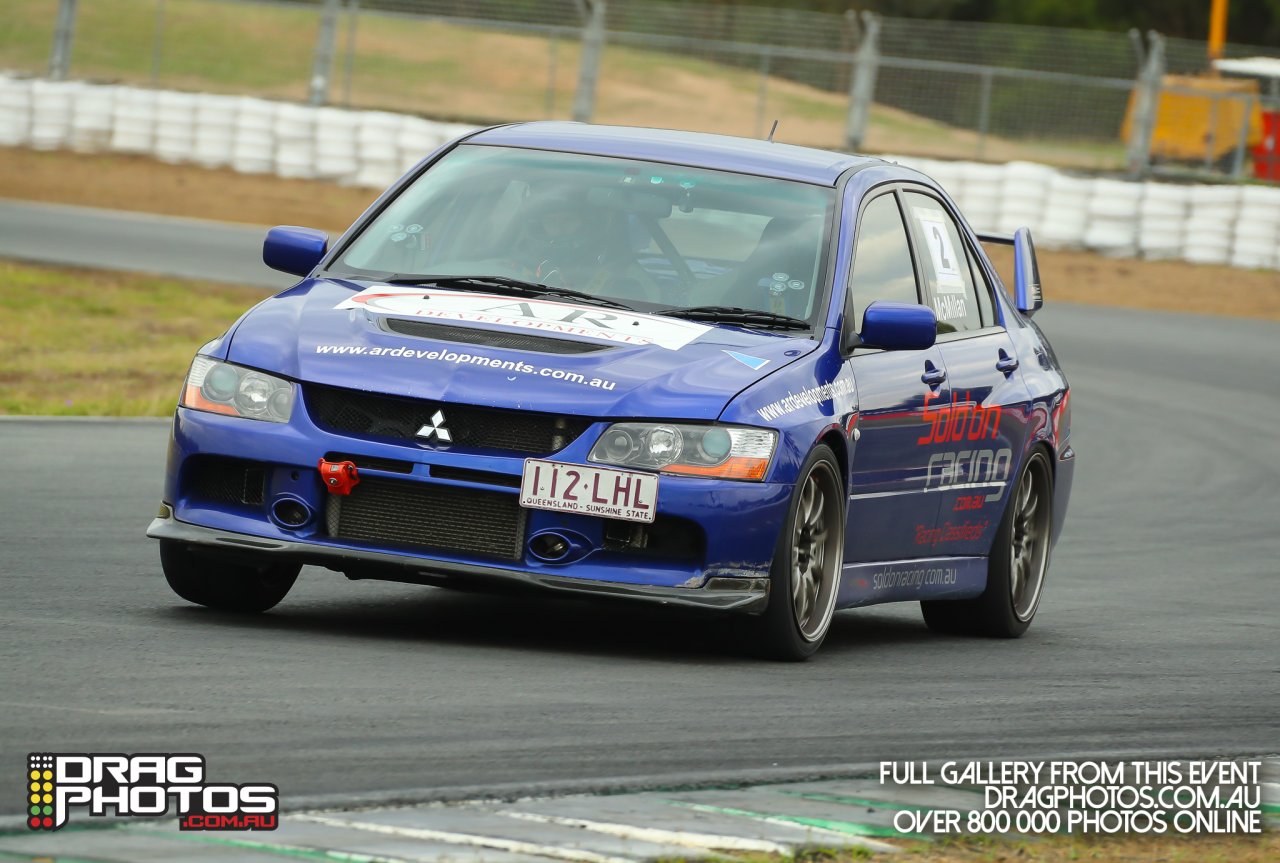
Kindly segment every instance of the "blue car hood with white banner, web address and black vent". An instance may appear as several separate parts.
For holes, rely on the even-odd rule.
[[[817,347],[571,300],[315,279],[246,314],[227,359],[431,401],[713,420],[739,392]]]

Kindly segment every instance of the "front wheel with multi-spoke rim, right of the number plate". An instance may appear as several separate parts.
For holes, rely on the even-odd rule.
[[[831,448],[800,467],[769,571],[769,604],[753,618],[754,649],[771,659],[808,659],[827,638],[845,557],[845,487]]]

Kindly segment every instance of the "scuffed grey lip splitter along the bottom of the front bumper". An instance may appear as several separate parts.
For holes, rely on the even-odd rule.
[[[325,566],[343,572],[366,574],[388,581],[436,584],[454,588],[526,586],[586,597],[643,599],[659,604],[709,608],[716,611],[760,612],[768,602],[765,577],[708,577],[699,588],[669,588],[616,581],[594,581],[547,572],[508,570],[474,563],[453,563],[412,554],[372,549],[353,549],[314,543],[270,539],[250,534],[202,528],[178,521],[172,515],[155,519],[147,536],[186,545],[220,549],[232,554],[270,557],[298,563]]]

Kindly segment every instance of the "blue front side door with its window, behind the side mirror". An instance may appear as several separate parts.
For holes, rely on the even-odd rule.
[[[863,312],[877,300],[919,302],[916,261],[899,193],[869,192],[854,236],[846,325],[861,329]],[[924,410],[950,398],[940,348],[881,351],[856,348],[847,364],[858,385],[845,561],[860,563],[929,557],[916,538],[932,535],[938,496],[925,490],[929,447]]]

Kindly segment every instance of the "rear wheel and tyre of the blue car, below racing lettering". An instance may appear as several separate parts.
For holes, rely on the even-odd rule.
[[[987,589],[974,599],[922,602],[929,629],[1019,638],[1032,625],[1048,574],[1053,525],[1053,475],[1043,449],[1032,453],[1012,488],[991,544]]]

